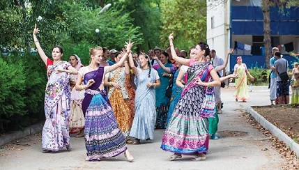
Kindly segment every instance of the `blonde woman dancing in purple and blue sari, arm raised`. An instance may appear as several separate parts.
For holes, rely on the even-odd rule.
[[[102,47],[93,47],[90,51],[91,63],[79,70],[75,88],[85,89],[82,109],[85,115],[86,160],[100,160],[102,157],[114,157],[125,152],[128,161],[133,161],[104,89],[105,74],[123,65],[132,44],[130,41],[127,43],[126,51],[118,63],[105,67],[98,66],[103,56]],[[84,85],[81,85],[82,82]]]

